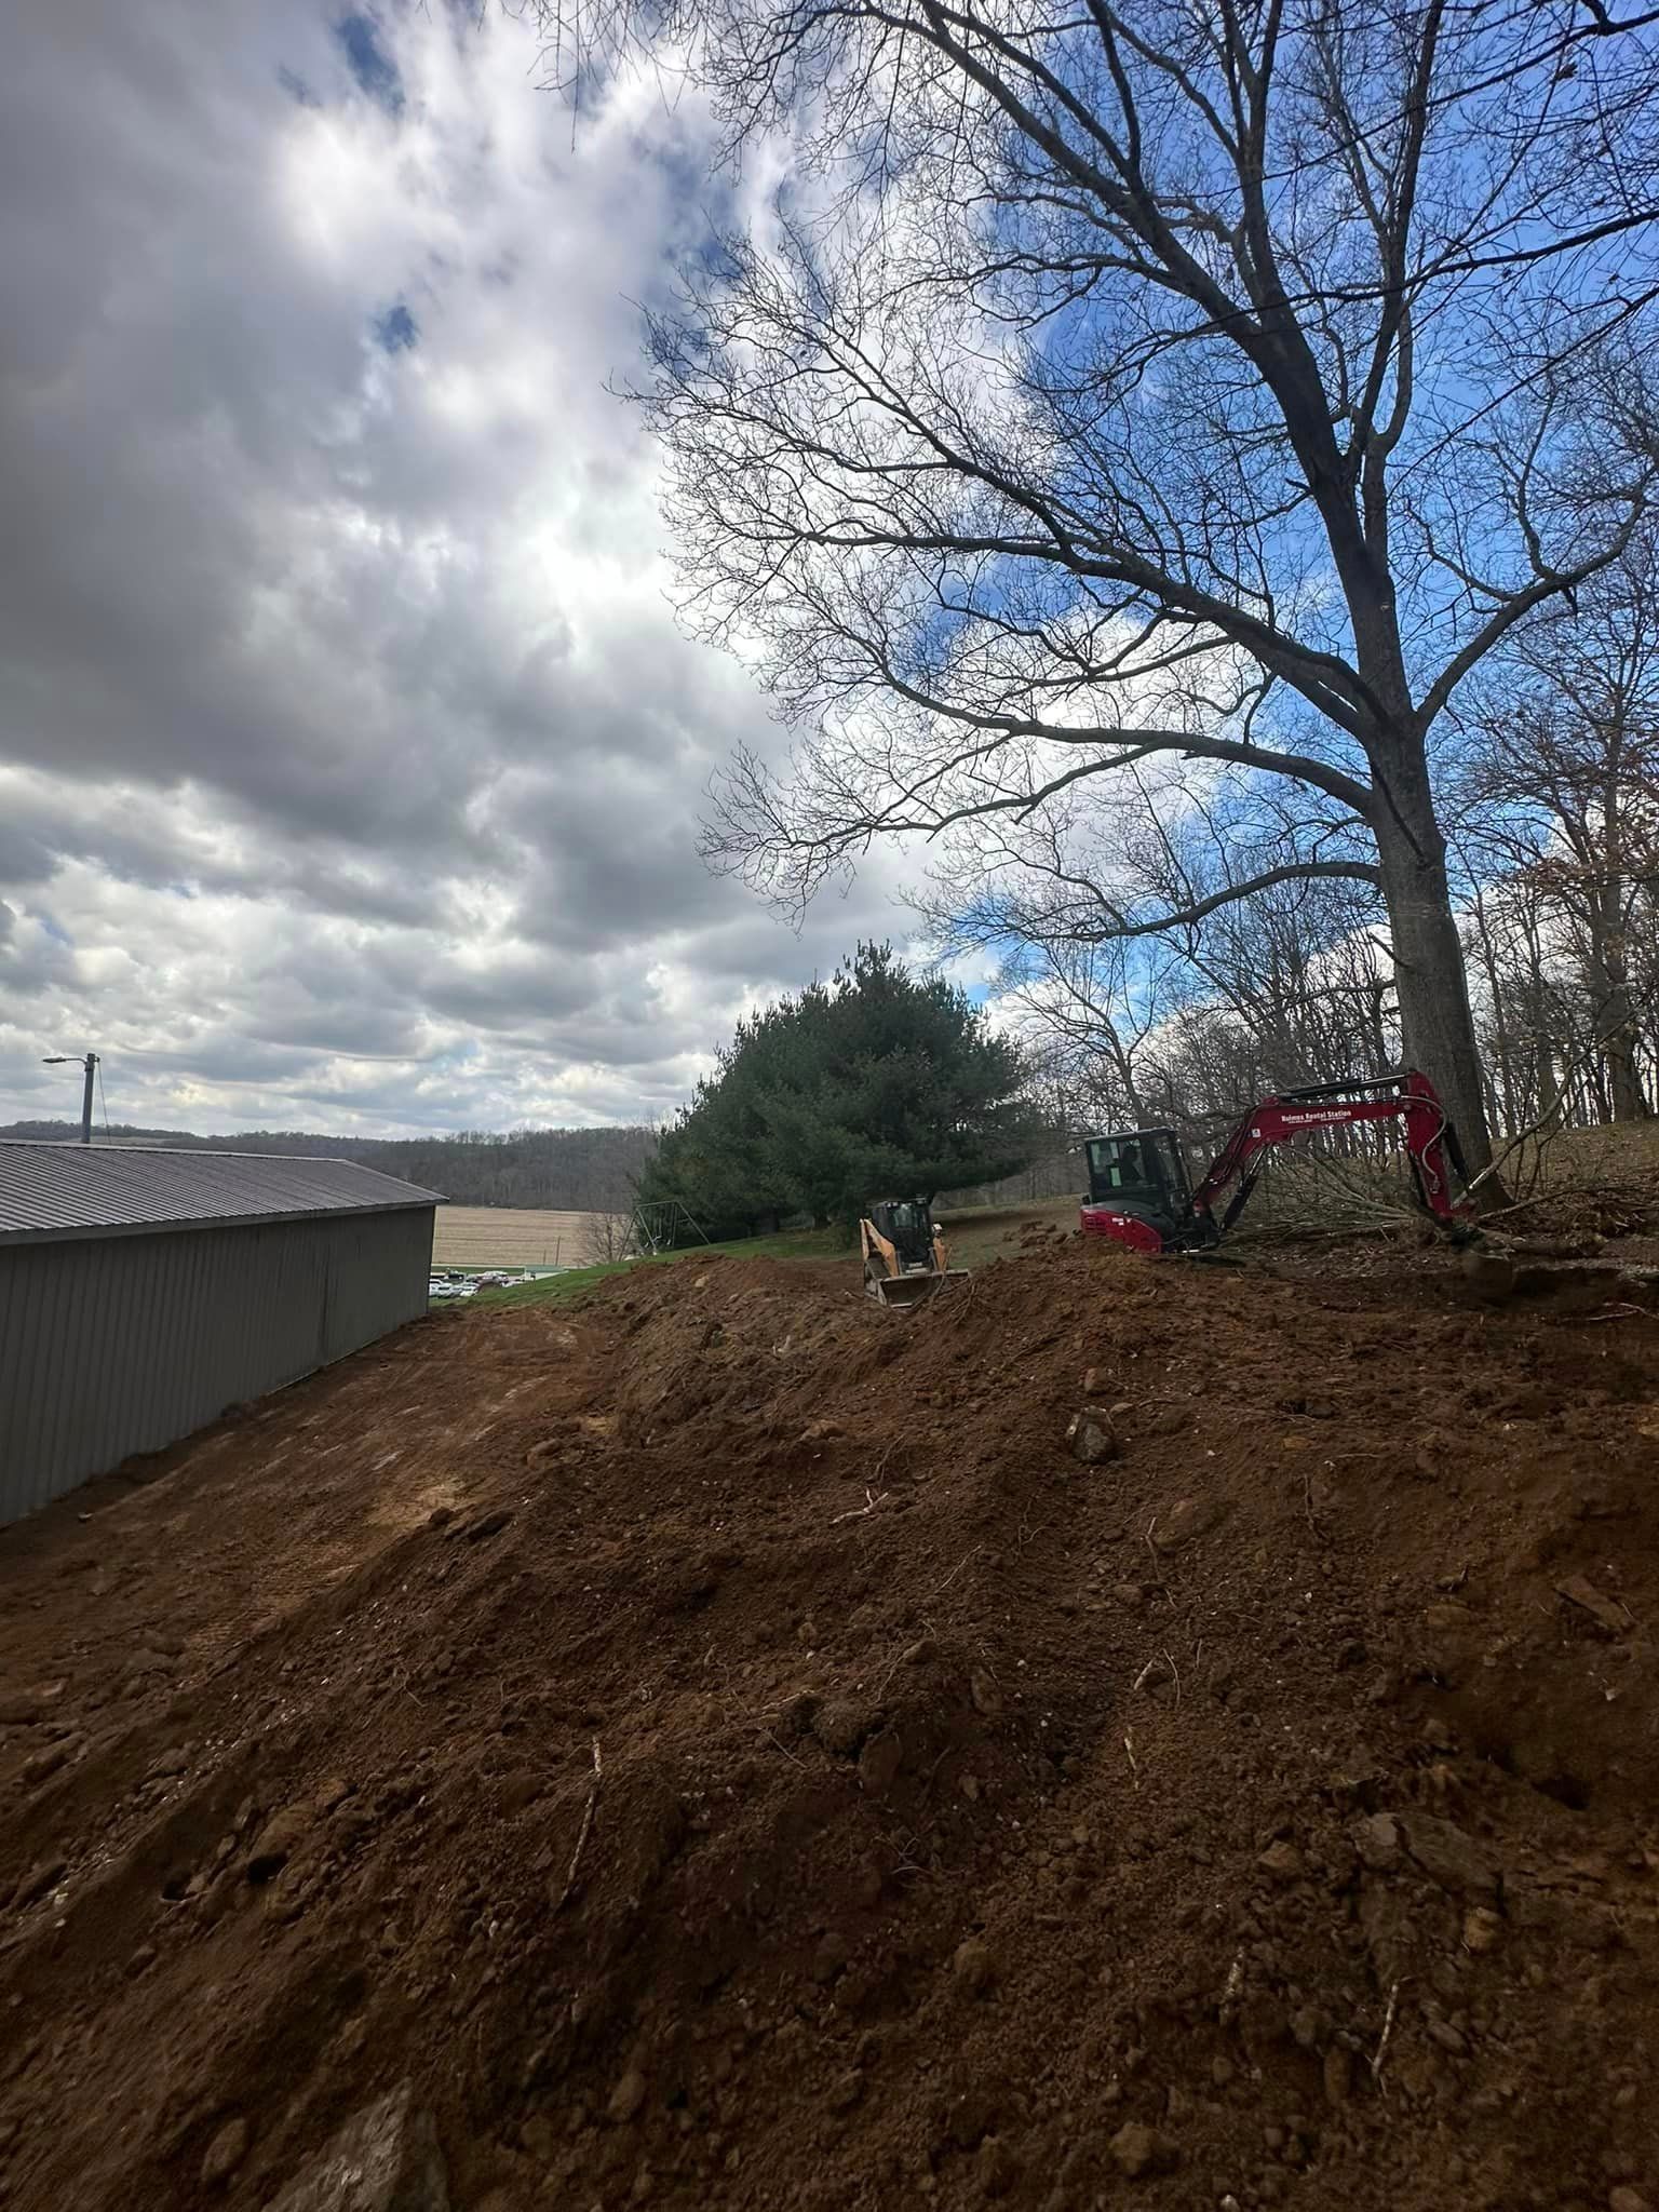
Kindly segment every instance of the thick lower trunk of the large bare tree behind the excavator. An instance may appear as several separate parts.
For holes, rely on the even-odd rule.
[[[1405,1064],[1422,1068],[1458,1133],[1469,1175],[1491,1166],[1475,1018],[1469,1006],[1458,920],[1447,880],[1447,843],[1433,816],[1429,772],[1396,754],[1378,774],[1376,843],[1394,940]],[[1493,1192],[1495,1179],[1482,1186]]]

